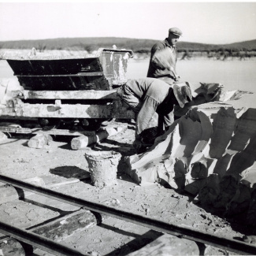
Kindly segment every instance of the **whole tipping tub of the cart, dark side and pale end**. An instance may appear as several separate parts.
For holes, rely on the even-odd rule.
[[[132,50],[100,48],[87,57],[6,59],[20,85],[27,90],[111,90],[125,83]]]

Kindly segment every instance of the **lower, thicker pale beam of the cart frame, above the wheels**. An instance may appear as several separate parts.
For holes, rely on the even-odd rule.
[[[13,108],[0,108],[0,117],[52,117],[52,118],[128,118],[134,119],[134,112],[121,102],[109,105],[53,105],[24,103]]]

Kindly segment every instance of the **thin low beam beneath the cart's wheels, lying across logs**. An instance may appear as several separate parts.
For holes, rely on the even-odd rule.
[[[67,129],[51,129],[51,130],[43,130],[42,128],[21,128],[21,127],[14,127],[14,126],[1,126],[0,124],[0,131],[1,132],[13,132],[13,133],[21,133],[21,134],[48,134],[48,135],[72,135],[72,136],[80,136],[80,135],[87,135],[87,136],[94,136],[95,131],[72,131]]]

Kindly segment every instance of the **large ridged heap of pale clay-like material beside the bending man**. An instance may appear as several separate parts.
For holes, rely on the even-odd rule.
[[[127,158],[139,184],[158,182],[199,202],[256,221],[256,95],[221,91],[192,106],[146,153]],[[247,107],[245,107],[247,106]]]

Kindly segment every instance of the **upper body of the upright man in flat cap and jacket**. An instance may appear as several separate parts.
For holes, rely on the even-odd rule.
[[[154,44],[151,49],[147,77],[164,80],[165,83],[170,85],[180,79],[180,76],[176,74],[176,43],[181,35],[182,32],[179,28],[170,28],[168,38]]]

